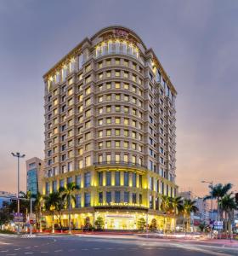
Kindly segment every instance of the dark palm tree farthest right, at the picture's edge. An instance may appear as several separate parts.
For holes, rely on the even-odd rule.
[[[225,214],[225,234],[227,237],[227,227],[229,228],[229,236],[231,235],[230,229],[230,220],[232,218],[232,212],[237,209],[237,205],[235,203],[235,197],[231,196],[232,194],[224,195],[224,197],[220,200],[220,207]]]

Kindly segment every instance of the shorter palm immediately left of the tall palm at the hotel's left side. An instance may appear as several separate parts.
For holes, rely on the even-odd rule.
[[[54,213],[58,213],[59,225],[62,229],[61,215],[65,207],[64,201],[62,200],[59,192],[52,192],[44,196],[45,209],[52,213],[52,233],[54,233]]]

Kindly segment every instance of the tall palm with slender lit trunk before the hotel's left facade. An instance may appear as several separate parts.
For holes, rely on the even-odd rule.
[[[66,201],[69,210],[69,233],[71,234],[71,202],[76,203],[74,191],[79,189],[76,183],[67,183],[66,188],[59,188],[59,193],[62,195],[63,201]]]

